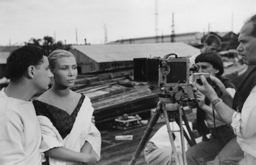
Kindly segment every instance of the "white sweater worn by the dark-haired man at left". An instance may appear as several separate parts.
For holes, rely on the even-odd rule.
[[[41,165],[41,129],[32,101],[0,91],[0,165]]]

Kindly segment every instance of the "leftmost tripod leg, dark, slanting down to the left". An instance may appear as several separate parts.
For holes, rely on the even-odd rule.
[[[141,151],[143,150],[147,140],[148,140],[148,137],[150,135],[150,133],[152,132],[152,129],[153,127],[155,126],[155,124],[157,123],[157,119],[159,118],[160,116],[160,111],[162,110],[161,107],[160,107],[160,101],[157,103],[157,109],[156,111],[154,112],[154,114],[151,116],[149,122],[148,122],[148,125],[145,129],[145,133],[143,134],[143,137],[142,139],[140,140],[140,144],[138,145],[135,153],[134,153],[134,156],[132,156],[131,158],[131,162],[129,162],[129,165],[135,165],[136,163],[136,160],[137,158],[140,156],[140,153]]]

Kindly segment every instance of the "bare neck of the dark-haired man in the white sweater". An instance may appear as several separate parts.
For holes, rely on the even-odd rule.
[[[8,97],[24,101],[29,101],[36,94],[36,91],[31,88],[31,85],[22,82],[10,82],[4,92]]]

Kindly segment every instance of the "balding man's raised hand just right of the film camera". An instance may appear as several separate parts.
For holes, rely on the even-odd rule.
[[[209,100],[210,102],[214,101],[215,99],[218,99],[218,95],[215,92],[215,90],[212,88],[212,86],[207,82],[206,78],[204,77],[204,75],[201,75],[200,77],[203,85],[200,85],[198,83],[196,84],[196,87],[198,88],[198,90],[203,93]],[[213,78],[215,79],[215,78]],[[217,78],[218,79],[218,78]]]

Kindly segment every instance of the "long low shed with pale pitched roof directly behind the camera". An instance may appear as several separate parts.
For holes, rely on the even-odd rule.
[[[134,58],[163,57],[175,53],[189,57],[199,49],[184,43],[79,45],[69,50],[76,57],[79,73],[133,67]]]

